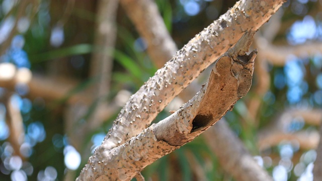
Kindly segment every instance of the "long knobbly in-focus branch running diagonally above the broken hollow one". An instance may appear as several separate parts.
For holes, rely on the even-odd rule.
[[[147,128],[200,72],[235,44],[245,31],[258,30],[284,1],[237,2],[141,86],[121,110],[102,146],[110,150]],[[243,95],[242,92],[240,94]]]

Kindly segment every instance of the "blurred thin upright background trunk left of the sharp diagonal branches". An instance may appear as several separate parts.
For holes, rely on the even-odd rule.
[[[116,0],[100,0],[97,4],[98,15],[97,19],[97,27],[95,31],[95,41],[94,44],[96,47],[102,47],[103,50],[111,50],[111,47],[114,47],[115,39],[116,39],[116,12],[118,8],[118,1]],[[113,58],[111,57],[111,51],[107,51],[102,53],[102,51],[94,52],[93,57],[91,59],[91,69],[90,76],[92,78],[98,77],[98,81],[95,82],[92,87],[94,87],[93,94],[91,95],[92,102],[93,100],[97,100],[97,109],[90,116],[89,120],[83,124],[79,125],[78,129],[74,129],[75,122],[83,117],[86,112],[81,112],[80,114],[75,114],[75,111],[79,111],[76,106],[79,108],[79,104],[73,104],[71,108],[67,111],[67,119],[68,124],[67,132],[70,132],[69,136],[71,137],[73,146],[79,150],[79,145],[81,145],[83,137],[85,137],[90,131],[98,128],[104,119],[101,118],[101,111],[105,110],[106,112],[110,112],[111,110],[116,110],[115,106],[108,107],[106,102],[106,95],[109,94],[110,91],[110,81],[111,81],[111,73],[112,73],[112,64]],[[88,110],[90,104],[83,104],[84,109]],[[111,114],[110,114],[111,115]],[[101,119],[100,119],[101,118]],[[85,151],[85,150],[83,150]],[[82,152],[82,151],[81,151]],[[88,154],[85,154],[89,155]]]

